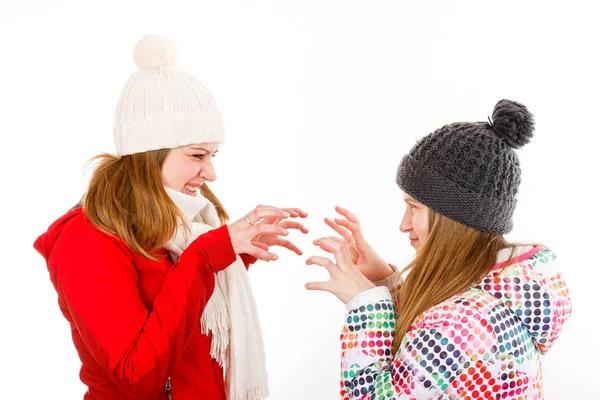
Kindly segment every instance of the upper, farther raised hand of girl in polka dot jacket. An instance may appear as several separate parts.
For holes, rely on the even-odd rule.
[[[345,219],[335,218],[332,221],[325,218],[325,223],[344,239],[351,260],[358,270],[371,281],[377,281],[393,274],[394,269],[373,250],[363,237],[359,219],[345,208],[336,207],[335,211]],[[316,242],[313,243],[317,244]]]

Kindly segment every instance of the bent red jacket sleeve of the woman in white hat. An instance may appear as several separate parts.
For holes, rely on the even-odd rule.
[[[63,249],[57,290],[86,347],[131,398],[156,397],[197,328],[214,272],[235,261],[226,226],[192,242],[166,275],[152,307],[138,291],[124,243],[100,232]]]

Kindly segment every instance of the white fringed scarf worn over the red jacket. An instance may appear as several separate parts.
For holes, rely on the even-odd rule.
[[[191,228],[183,223],[165,248],[178,260],[198,236],[221,224],[215,206],[202,196],[166,188]],[[229,400],[263,400],[269,395],[264,344],[248,272],[239,258],[216,273],[215,290],[200,319],[202,333],[212,333],[210,355],[223,367]]]

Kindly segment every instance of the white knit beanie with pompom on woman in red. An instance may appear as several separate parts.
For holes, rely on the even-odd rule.
[[[177,68],[175,43],[148,35],[133,49],[140,69],[125,83],[117,105],[117,155],[221,143],[223,121],[215,99],[190,73]]]

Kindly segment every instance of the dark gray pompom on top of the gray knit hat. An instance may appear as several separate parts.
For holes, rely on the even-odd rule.
[[[533,115],[527,107],[506,99],[500,100],[494,107],[490,124],[494,133],[513,149],[529,143],[535,129]]]

